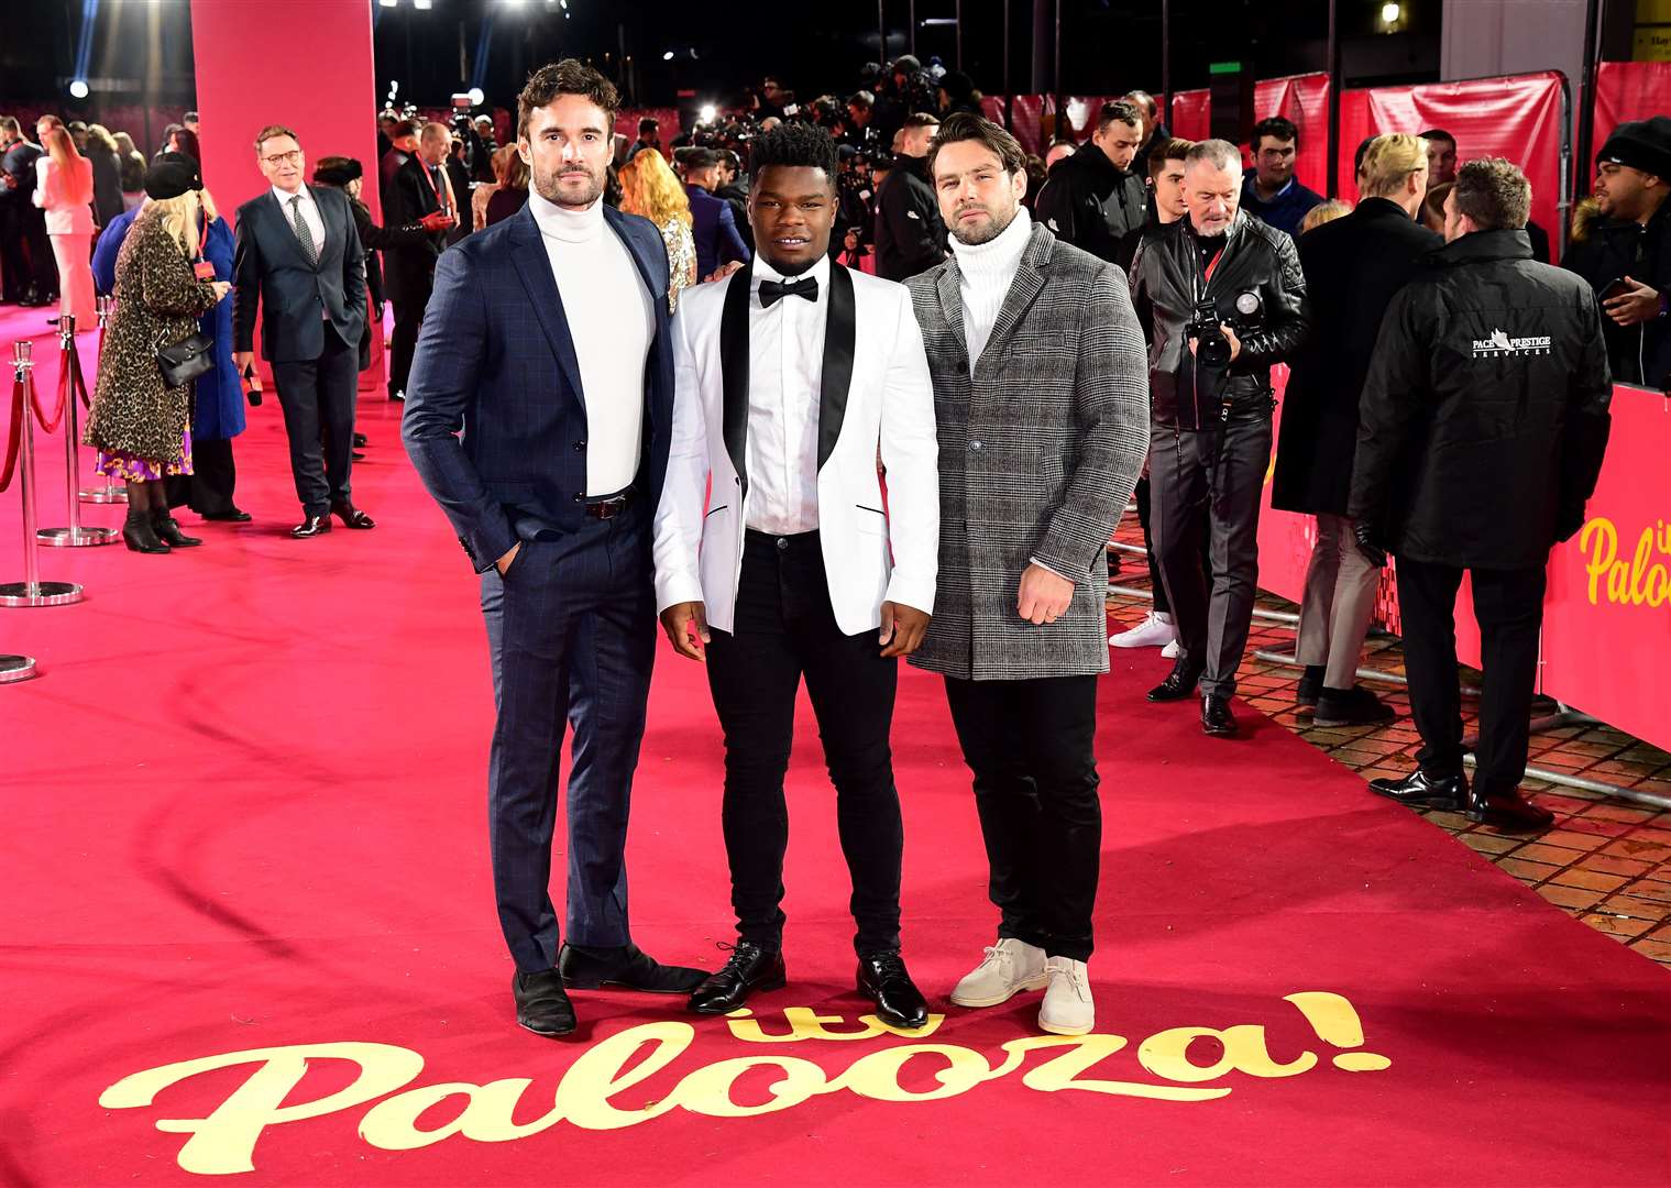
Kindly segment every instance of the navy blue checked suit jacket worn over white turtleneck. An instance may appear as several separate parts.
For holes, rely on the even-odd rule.
[[[613,207],[603,217],[627,244],[655,307],[637,480],[653,508],[673,421],[667,247],[648,219]],[[518,540],[582,523],[587,398],[556,277],[526,206],[465,237],[436,264],[401,438],[478,573]]]

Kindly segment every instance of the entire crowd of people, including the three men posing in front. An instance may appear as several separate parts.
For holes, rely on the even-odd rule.
[[[1613,379],[1663,388],[1671,369],[1671,120],[1606,139],[1556,269],[1526,175],[1439,129],[1367,139],[1350,206],[1295,179],[1300,134],[1280,117],[1247,150],[1190,142],[1131,92],[1083,144],[1061,135],[1031,157],[956,72],[904,57],[862,84],[802,104],[767,79],[747,110],[663,142],[653,119],[617,134],[613,85],[553,63],[518,97],[515,144],[491,120],[384,114],[378,217],[359,160],[321,157],[309,175],[274,124],[254,135],[269,189],[236,231],[202,189],[196,129],[170,135],[144,201],[107,222],[72,129],[43,119],[40,160],[18,157],[35,206],[58,216],[45,234],[65,311],[94,287],[72,274],[102,229],[97,286],[119,302],[87,438],[129,485],[139,551],[197,543],[170,516],[180,501],[242,515],[231,438],[257,317],[304,513],[294,535],[333,516],[371,528],[351,500],[354,399],[393,306],[388,394],[481,575],[518,1021],[571,1031],[565,986],[724,1014],[784,982],[784,772],[804,678],[854,882],[857,986],[884,1021],[921,1026],[887,744],[909,657],[944,678],[993,864],[996,942],[951,1001],[1044,989],[1044,1029],[1088,1031],[1096,677],[1110,645],[1161,647],[1173,668],[1148,698],[1198,702],[1208,737],[1240,732],[1230,698],[1273,444],[1275,506],[1317,518],[1302,703],[1318,723],[1394,717],[1355,670],[1397,558],[1424,747],[1375,790],[1547,827],[1517,792],[1544,563],[1582,523]],[[35,276],[7,257],[8,284]],[[155,348],[194,333],[214,358],[190,401]],[[194,449],[214,458],[207,475]],[[185,476],[180,500],[169,483]],[[1106,546],[1133,495],[1155,610],[1108,638]],[[1472,780],[1452,618],[1464,573],[1486,640]],[[725,735],[739,939],[714,974],[655,962],[627,927],[657,618],[707,665]],[[570,727],[560,929],[546,884]]]

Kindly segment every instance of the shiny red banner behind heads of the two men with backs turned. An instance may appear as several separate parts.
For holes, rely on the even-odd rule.
[[[1352,164],[1365,137],[1385,132],[1444,129],[1457,139],[1457,159],[1507,157],[1532,184],[1532,219],[1549,232],[1551,251],[1561,241],[1561,97],[1557,70],[1434,82],[1419,87],[1377,87],[1340,94],[1340,197],[1357,202]]]

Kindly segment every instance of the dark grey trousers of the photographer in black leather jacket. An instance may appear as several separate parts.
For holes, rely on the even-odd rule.
[[[1201,692],[1232,697],[1253,622],[1258,505],[1270,466],[1270,413],[1232,413],[1218,429],[1155,426],[1150,535],[1171,602],[1178,647]],[[1206,515],[1203,515],[1203,510]],[[1208,533],[1213,581],[1201,573]]]

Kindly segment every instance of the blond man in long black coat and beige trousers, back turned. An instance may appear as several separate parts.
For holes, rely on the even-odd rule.
[[[1387,302],[1444,239],[1415,222],[1427,192],[1420,137],[1380,135],[1359,165],[1357,211],[1300,236],[1313,333],[1293,359],[1282,398],[1282,444],[1272,506],[1317,516],[1317,543],[1300,600],[1300,703],[1317,725],[1370,725],[1392,708],[1357,683],[1375,613],[1380,566],[1359,551],[1347,520],[1359,396]]]

